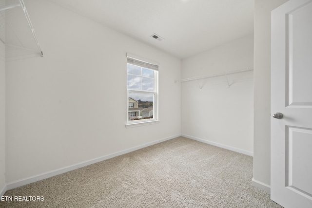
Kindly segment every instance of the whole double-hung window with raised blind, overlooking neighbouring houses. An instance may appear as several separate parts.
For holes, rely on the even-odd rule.
[[[127,125],[158,120],[158,64],[127,54]],[[143,112],[148,111],[148,116]]]

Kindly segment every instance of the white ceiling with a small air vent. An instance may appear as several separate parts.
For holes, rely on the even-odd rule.
[[[254,0],[50,1],[179,58],[254,32]]]

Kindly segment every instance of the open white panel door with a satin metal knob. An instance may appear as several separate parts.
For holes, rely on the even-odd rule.
[[[271,32],[271,199],[312,208],[312,0],[274,9]]]

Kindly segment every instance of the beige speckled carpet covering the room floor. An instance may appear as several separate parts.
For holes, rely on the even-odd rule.
[[[178,137],[5,196],[4,208],[281,208],[252,187],[253,157]],[[14,199],[14,198],[13,198]]]

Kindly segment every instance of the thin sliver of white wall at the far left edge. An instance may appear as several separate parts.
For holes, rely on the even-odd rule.
[[[5,5],[0,0],[0,7]],[[0,38],[5,41],[4,19],[0,17]],[[2,31],[3,30],[3,31]],[[0,196],[5,191],[5,44],[0,40]]]

